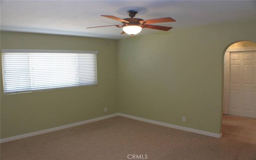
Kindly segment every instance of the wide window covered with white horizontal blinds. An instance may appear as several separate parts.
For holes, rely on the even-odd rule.
[[[96,51],[1,50],[5,93],[97,84]]]

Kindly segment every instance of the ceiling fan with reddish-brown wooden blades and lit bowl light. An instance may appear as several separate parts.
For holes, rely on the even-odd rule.
[[[111,18],[113,20],[118,20],[118,21],[122,22],[123,24],[122,25],[117,24],[117,25],[108,25],[108,26],[98,26],[98,27],[116,26],[118,28],[123,28],[123,32],[121,34],[127,33],[127,34],[133,36],[133,35],[140,33],[142,28],[158,29],[158,30],[163,30],[163,31],[168,31],[168,30],[172,29],[172,27],[151,25],[152,23],[176,22],[176,20],[172,19],[171,17],[157,18],[157,19],[151,19],[151,20],[143,20],[140,18],[133,18],[136,15],[136,13],[138,13],[138,12],[134,11],[134,10],[129,10],[127,12],[131,18],[121,19],[121,18],[118,18],[115,16],[101,15],[103,17]],[[98,27],[89,27],[89,28],[98,28]]]

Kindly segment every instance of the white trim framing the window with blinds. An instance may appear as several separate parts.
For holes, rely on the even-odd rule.
[[[2,64],[2,68],[3,68],[3,62],[2,62],[2,53],[29,53],[29,52],[34,52],[34,53],[90,53],[90,54],[98,54],[98,51],[76,51],[76,50],[25,50],[25,49],[1,49],[1,64]],[[1,72],[3,71],[3,69],[1,69]],[[96,71],[97,71],[97,65],[96,65]],[[97,75],[98,77],[98,75]],[[2,76],[2,82],[4,83],[4,76]],[[94,85],[98,85],[98,81],[96,84],[84,84],[84,85],[80,85],[80,86],[68,86],[68,87],[58,87],[58,88],[52,88],[52,89],[42,89],[42,90],[34,90],[34,91],[23,91],[23,92],[8,92],[5,93],[6,95],[9,94],[20,94],[20,93],[28,93],[28,92],[42,92],[42,91],[52,91],[52,90],[59,90],[59,89],[69,89],[69,88],[77,88],[77,87],[81,87],[81,86],[94,86]],[[4,84],[3,84],[4,86]],[[4,90],[4,88],[3,88]]]

